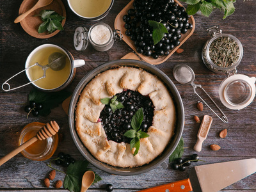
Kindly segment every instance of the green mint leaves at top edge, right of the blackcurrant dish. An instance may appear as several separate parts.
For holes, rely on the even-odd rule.
[[[187,13],[194,15],[196,12],[201,11],[206,17],[212,13],[212,8],[223,10],[223,19],[232,15],[235,12],[234,4],[236,0],[180,0],[188,4]]]

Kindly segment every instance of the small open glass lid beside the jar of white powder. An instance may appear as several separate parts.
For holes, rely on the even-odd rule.
[[[88,29],[84,27],[76,28],[74,33],[74,47],[77,51],[84,51],[89,44]]]

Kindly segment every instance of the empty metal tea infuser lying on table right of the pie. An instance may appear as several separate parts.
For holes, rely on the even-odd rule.
[[[212,100],[210,95],[208,95],[208,93],[205,92],[205,90],[204,90],[204,88],[202,88],[201,84],[194,83],[195,73],[191,67],[189,67],[188,65],[182,65],[182,64],[175,65],[175,67],[173,68],[173,76],[176,79],[176,81],[178,81],[180,84],[191,84],[191,86],[193,86],[194,93],[205,103],[205,105],[209,109],[211,109],[211,111],[216,116],[218,116],[218,118],[220,118],[220,120],[222,122],[224,122],[224,123],[228,122],[227,116],[217,106],[216,102],[214,102],[214,100]],[[221,117],[217,113],[215,113],[215,111],[205,102],[204,99],[202,99],[202,97],[200,97],[200,95],[198,95],[198,93],[196,92],[196,88],[201,88],[205,92],[205,94],[209,97],[209,99],[211,99],[211,101],[214,103],[216,108],[218,108],[218,110],[221,112],[221,115],[222,115]]]

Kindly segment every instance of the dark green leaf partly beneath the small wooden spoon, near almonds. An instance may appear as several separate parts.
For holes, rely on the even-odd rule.
[[[67,174],[64,179],[64,188],[69,191],[79,192],[81,189],[81,182],[84,172],[88,171],[88,161],[76,161],[74,164],[70,163],[67,168]],[[93,183],[101,180],[99,175],[95,174]]]

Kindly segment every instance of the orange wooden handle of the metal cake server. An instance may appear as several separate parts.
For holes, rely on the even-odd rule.
[[[189,192],[193,191],[190,180],[189,179],[184,179],[184,180],[179,180],[176,182],[171,182],[168,184],[164,184],[161,186],[156,186],[154,188],[148,188],[148,189],[143,189],[141,191],[149,191],[149,192],[166,192],[166,189],[168,189],[170,192]]]

